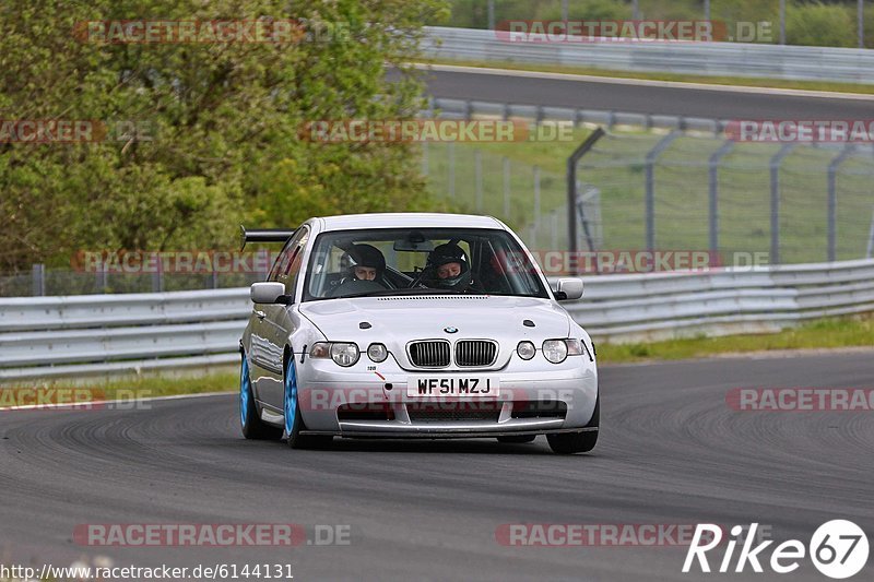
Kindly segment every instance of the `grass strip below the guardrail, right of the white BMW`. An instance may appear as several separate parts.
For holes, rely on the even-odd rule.
[[[822,319],[766,335],[693,337],[637,344],[598,344],[598,359],[602,364],[625,364],[702,358],[722,354],[841,347],[871,347],[874,349],[874,317]]]

